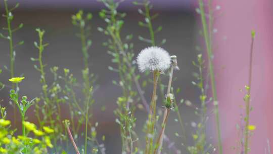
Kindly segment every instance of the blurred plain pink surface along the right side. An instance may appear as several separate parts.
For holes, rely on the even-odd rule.
[[[249,153],[265,153],[267,139],[273,148],[273,1],[213,1],[223,13],[215,20],[214,64],[219,100],[223,153],[235,153],[240,114],[245,105],[244,86],[248,83],[251,30],[256,37],[253,53],[250,125],[257,128],[250,138]],[[226,39],[224,39],[226,38]],[[214,136],[216,138],[216,136]]]

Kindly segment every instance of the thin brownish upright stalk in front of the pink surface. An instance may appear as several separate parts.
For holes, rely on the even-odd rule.
[[[245,126],[245,154],[248,153],[248,135],[249,135],[249,113],[250,113],[250,90],[251,90],[251,78],[252,78],[252,59],[253,59],[253,46],[254,46],[255,31],[252,31],[251,45],[250,45],[250,59],[249,59],[249,74],[248,74],[248,90],[247,95],[249,96],[246,99],[246,126]]]

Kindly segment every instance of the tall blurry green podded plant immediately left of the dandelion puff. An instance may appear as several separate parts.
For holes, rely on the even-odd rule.
[[[117,71],[119,73],[120,81],[114,82],[122,89],[122,97],[117,100],[118,108],[114,113],[118,119],[116,122],[120,125],[121,137],[122,137],[122,152],[133,152],[132,134],[134,138],[138,138],[134,133],[135,127],[134,111],[135,106],[133,102],[137,100],[138,94],[133,90],[133,84],[138,84],[138,79],[134,73],[135,66],[132,65],[133,60],[133,44],[129,43],[132,35],[129,34],[123,41],[120,37],[121,29],[124,24],[123,18],[125,13],[117,12],[117,8],[120,2],[100,0],[107,10],[100,12],[100,17],[107,23],[105,28],[99,27],[98,30],[109,36],[110,39],[103,43],[104,46],[108,46],[108,53],[113,56],[112,62],[117,65],[117,68],[109,66],[110,70]]]

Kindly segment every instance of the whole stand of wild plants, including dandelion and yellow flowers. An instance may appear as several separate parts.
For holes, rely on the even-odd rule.
[[[152,14],[152,4],[148,0],[142,2],[133,2],[139,7],[138,12],[142,15],[143,20],[138,24],[147,28],[148,36],[138,36],[140,41],[147,43],[147,48],[140,51],[138,56],[134,55],[134,45],[132,42],[133,35],[124,35],[122,30],[124,27],[125,13],[118,11],[120,3],[124,0],[98,0],[104,4],[105,9],[99,12],[99,16],[105,21],[105,26],[97,29],[106,36],[106,41],[102,44],[107,48],[107,52],[112,56],[113,66],[108,66],[109,70],[116,72],[119,79],[113,81],[113,84],[119,87],[122,94],[117,97],[117,108],[114,109],[116,115],[116,123],[120,129],[121,136],[121,153],[181,153],[181,149],[177,148],[169,137],[166,130],[168,129],[168,119],[171,112],[177,115],[176,122],[179,122],[179,135],[181,145],[186,147],[187,153],[191,154],[208,154],[215,150],[222,154],[221,129],[219,120],[219,109],[217,91],[215,86],[215,74],[213,65],[213,10],[211,0],[204,4],[203,0],[198,0],[199,8],[197,13],[200,14],[202,23],[201,36],[205,43],[207,60],[200,53],[197,60],[193,61],[193,65],[198,70],[194,73],[194,86],[200,91],[199,106],[195,107],[195,114],[199,121],[191,123],[191,132],[186,132],[185,123],[179,112],[180,105],[193,106],[190,101],[176,102],[176,96],[180,94],[180,88],[173,87],[172,82],[175,80],[175,73],[179,70],[179,57],[170,54],[162,47],[166,42],[163,39],[159,43],[159,39],[155,34],[162,30],[162,26],[154,28],[153,20],[159,15]],[[105,136],[101,137],[97,133],[98,122],[92,122],[93,106],[95,104],[94,91],[98,88],[97,75],[90,67],[89,58],[92,56],[92,18],[93,14],[84,13],[82,10],[72,15],[71,21],[77,28],[76,36],[79,37],[80,50],[82,53],[83,67],[81,69],[81,79],[75,78],[69,68],[59,69],[58,66],[48,68],[44,63],[43,55],[46,51],[48,43],[44,43],[45,31],[36,28],[38,41],[34,42],[38,56],[31,57],[34,68],[40,74],[40,96],[29,100],[27,96],[19,96],[19,83],[27,80],[23,75],[15,77],[15,51],[17,45],[23,45],[19,42],[17,45],[13,42],[13,34],[21,29],[23,24],[17,28],[12,28],[14,15],[12,11],[18,8],[19,4],[13,9],[8,8],[7,0],[4,0],[7,27],[7,35],[0,33],[0,36],[9,41],[10,49],[10,65],[5,66],[10,71],[11,86],[4,85],[0,82],[0,90],[11,87],[10,100],[14,107],[14,121],[16,123],[16,112],[20,113],[21,131],[18,126],[12,127],[11,121],[7,119],[6,107],[0,104],[0,153],[106,153],[104,146]],[[205,6],[208,6],[205,8]],[[208,12],[207,12],[208,11]],[[123,37],[125,36],[125,37]],[[252,31],[252,43],[250,50],[249,62],[249,79],[248,85],[245,86],[246,95],[244,123],[238,125],[238,130],[242,131],[240,136],[240,145],[236,147],[239,153],[247,154],[250,151],[249,138],[256,126],[250,125],[250,111],[252,110],[250,102],[251,75],[252,75],[252,58],[255,32]],[[139,68],[139,71],[138,69]],[[206,70],[205,70],[206,69]],[[61,71],[60,71],[61,70]],[[48,75],[48,72],[51,72]],[[208,73],[205,73],[205,72]],[[141,72],[141,73],[138,73]],[[2,69],[0,69],[0,74]],[[152,78],[151,78],[152,76]],[[53,79],[53,82],[49,82]],[[168,80],[164,83],[164,80]],[[80,82],[82,81],[82,83]],[[206,82],[208,81],[208,82]],[[150,100],[147,99],[145,89],[147,86],[153,86],[153,92]],[[208,88],[210,87],[210,88]],[[211,90],[212,97],[209,97]],[[81,91],[78,94],[77,91]],[[0,100],[2,102],[2,100]],[[208,104],[212,104],[214,109],[209,111]],[[159,108],[158,106],[162,106]],[[28,122],[27,115],[30,109],[34,108],[35,118],[38,123],[35,125]],[[69,110],[69,118],[63,116],[62,108]],[[141,110],[147,113],[147,118],[141,127],[145,136],[139,136],[136,131],[136,111]],[[210,112],[215,115],[215,123],[217,130],[217,145],[213,145],[208,140],[206,134],[206,125],[210,116]],[[241,127],[241,129],[240,129]],[[84,130],[82,130],[84,128]],[[21,134],[20,134],[21,133]],[[84,140],[84,143],[81,141]],[[164,144],[165,143],[165,144]],[[71,146],[73,145],[73,146]],[[144,147],[145,146],[145,147]],[[72,148],[73,147],[73,148]],[[270,149],[270,148],[268,148]],[[268,150],[269,151],[269,150]]]

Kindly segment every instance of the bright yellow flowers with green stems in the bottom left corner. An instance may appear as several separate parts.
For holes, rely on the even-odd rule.
[[[50,134],[54,132],[49,127],[42,127],[43,131],[37,129],[36,125],[25,121],[25,115],[28,108],[33,105],[34,99],[27,101],[27,97],[23,96],[19,102],[19,86],[18,84],[24,80],[22,78],[11,78],[9,81],[16,84],[16,90],[10,90],[10,98],[18,107],[21,114],[22,135],[17,137],[14,135],[16,130],[11,130],[11,122],[6,120],[6,107],[0,106],[0,153],[48,153],[48,148],[52,148]],[[28,137],[30,132],[35,138]]]

